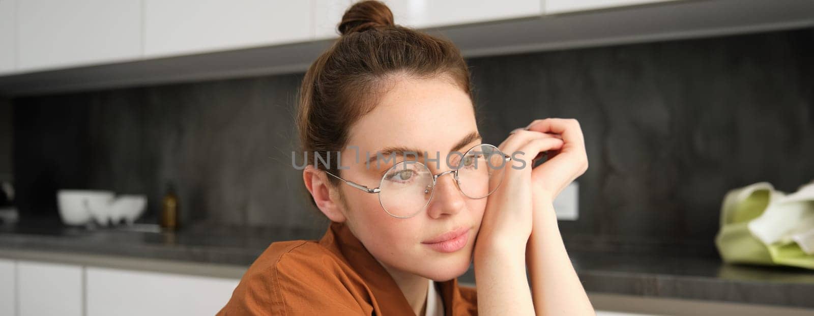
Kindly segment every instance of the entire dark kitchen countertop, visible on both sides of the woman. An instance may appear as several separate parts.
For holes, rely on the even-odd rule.
[[[323,232],[225,226],[197,226],[174,233],[0,226],[0,257],[195,270],[197,274],[239,278],[270,243],[319,239]],[[814,308],[814,270],[728,265],[717,257],[609,252],[569,255],[589,292]],[[459,281],[475,283],[473,270]]]

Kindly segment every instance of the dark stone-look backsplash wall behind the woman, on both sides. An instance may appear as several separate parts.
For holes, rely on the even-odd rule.
[[[470,59],[484,142],[573,117],[590,167],[569,248],[713,254],[726,191],[814,179],[814,29]],[[291,167],[302,74],[13,99],[24,218],[59,188],[149,197],[182,222],[325,224]]]

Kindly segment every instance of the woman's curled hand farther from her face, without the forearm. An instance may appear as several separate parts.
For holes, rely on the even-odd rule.
[[[576,178],[588,170],[588,156],[580,122],[575,119],[547,118],[526,127],[531,132],[562,138],[562,148],[549,151],[548,160],[532,170],[534,195],[553,201]]]

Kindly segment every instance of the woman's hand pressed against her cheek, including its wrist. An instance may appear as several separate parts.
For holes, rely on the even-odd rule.
[[[488,196],[477,244],[518,247],[524,251],[532,233],[532,159],[542,151],[559,150],[562,139],[528,130],[509,135],[498,149],[512,156],[504,166],[501,186]],[[514,160],[524,160],[525,166]],[[484,243],[484,240],[488,240]]]

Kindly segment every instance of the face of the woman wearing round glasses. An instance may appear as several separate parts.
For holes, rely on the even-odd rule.
[[[392,86],[387,86],[374,110],[350,130],[348,145],[359,148],[360,158],[357,163],[357,151],[353,149],[342,152],[342,165],[349,167],[341,171],[343,178],[379,187],[382,174],[394,163],[380,160],[378,168],[375,163],[367,167],[365,152],[376,156],[385,147],[427,151],[431,159],[440,157],[440,163],[425,162],[422,158],[418,161],[437,174],[450,169],[445,162],[450,151],[464,152],[481,143],[472,102],[449,78],[401,76],[388,82]],[[456,156],[451,157],[455,160]],[[406,158],[416,160],[413,156]],[[401,160],[405,156],[396,153],[396,161]],[[463,195],[453,174],[438,178],[427,207],[409,218],[388,215],[377,194],[347,185],[339,190],[344,197],[342,212],[349,228],[388,270],[443,281],[456,278],[469,268],[486,199]],[[440,235],[455,230],[466,230],[466,240],[432,243]],[[457,246],[460,244],[464,246]]]

